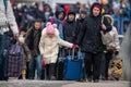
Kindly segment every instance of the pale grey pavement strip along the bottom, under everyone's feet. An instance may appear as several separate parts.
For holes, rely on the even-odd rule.
[[[80,83],[74,80],[0,80],[0,87],[131,87],[126,80],[100,80],[99,83]]]

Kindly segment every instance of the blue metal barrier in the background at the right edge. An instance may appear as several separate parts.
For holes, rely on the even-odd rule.
[[[117,27],[119,35],[124,35],[129,24],[130,18],[128,17],[114,17],[114,26]]]

